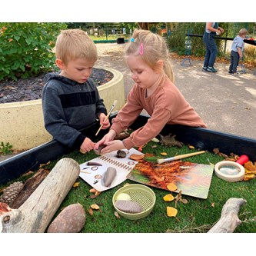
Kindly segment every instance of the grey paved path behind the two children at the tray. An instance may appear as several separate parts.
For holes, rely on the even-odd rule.
[[[115,68],[124,75],[125,96],[134,82],[123,59],[125,44],[97,44],[97,65]],[[172,59],[175,85],[198,111],[208,128],[256,139],[256,75],[228,75],[228,65],[216,63],[217,73],[201,71],[201,61],[181,66],[181,59]]]

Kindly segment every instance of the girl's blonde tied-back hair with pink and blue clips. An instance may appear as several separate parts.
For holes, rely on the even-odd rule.
[[[171,81],[175,80],[171,62],[168,58],[168,47],[163,37],[148,30],[135,29],[131,41],[125,48],[125,55],[140,55],[140,51],[141,58],[152,69],[156,68],[159,60],[163,61],[165,75]]]

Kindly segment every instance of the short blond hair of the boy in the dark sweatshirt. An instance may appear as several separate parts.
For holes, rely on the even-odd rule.
[[[91,38],[81,29],[62,30],[55,44],[55,56],[67,65],[71,60],[86,58],[96,62],[97,48]]]

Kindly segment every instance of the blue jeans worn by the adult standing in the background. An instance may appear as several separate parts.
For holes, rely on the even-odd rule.
[[[206,46],[206,53],[204,57],[204,67],[213,67],[216,56],[218,54],[215,39],[211,34],[204,32],[204,45]]]

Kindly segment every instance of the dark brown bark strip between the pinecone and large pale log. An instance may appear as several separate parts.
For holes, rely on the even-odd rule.
[[[18,193],[14,201],[9,204],[12,209],[18,209],[24,202],[30,197],[30,195],[35,191],[36,188],[41,184],[41,182],[49,174],[46,169],[39,169],[32,178],[25,181],[22,190]]]

